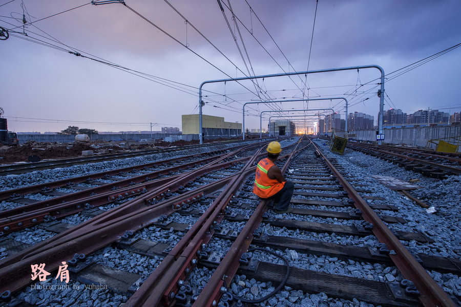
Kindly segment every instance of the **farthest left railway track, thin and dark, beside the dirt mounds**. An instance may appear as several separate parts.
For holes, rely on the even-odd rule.
[[[229,143],[240,143],[241,140],[238,141],[224,141],[220,142],[220,144],[229,144]],[[81,165],[81,164],[88,164],[88,163],[96,163],[96,162],[103,162],[103,161],[112,161],[124,158],[134,158],[134,157],[142,157],[148,155],[155,155],[156,153],[166,153],[166,152],[174,152],[179,150],[190,150],[194,148],[200,147],[209,147],[216,145],[216,143],[208,143],[203,145],[185,145],[181,147],[171,147],[171,148],[155,148],[150,150],[136,150],[136,151],[129,151],[129,152],[119,152],[119,153],[109,153],[106,155],[93,155],[88,157],[73,157],[68,159],[56,159],[56,160],[47,160],[47,161],[40,161],[40,162],[28,162],[28,163],[18,163],[18,164],[7,164],[7,165],[0,165],[0,176],[5,176],[8,174],[20,174],[25,172],[31,172],[36,170],[43,170],[43,169],[53,169],[58,167],[69,167],[73,165]]]

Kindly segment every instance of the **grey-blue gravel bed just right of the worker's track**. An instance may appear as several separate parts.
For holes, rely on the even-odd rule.
[[[324,142],[317,141],[317,143],[323,144]],[[410,252],[461,258],[461,240],[458,235],[461,231],[461,211],[458,208],[461,202],[459,193],[461,176],[450,176],[445,180],[432,179],[359,151],[346,149],[344,156],[333,154],[329,150],[324,152],[327,157],[336,158],[347,175],[351,178],[361,178],[360,183],[365,184],[366,189],[373,191],[373,193],[362,193],[362,195],[381,196],[385,199],[385,201],[370,200],[369,203],[388,204],[399,208],[399,211],[375,210],[378,214],[399,216],[407,221],[405,224],[387,224],[390,229],[420,232],[435,240],[432,244],[401,240]],[[436,212],[429,213],[405,196],[385,187],[371,175],[395,177],[403,181],[418,180],[416,184],[423,188],[411,190],[410,193],[429,206],[435,207]],[[461,278],[459,276],[435,271],[428,271],[428,273],[447,293],[460,293]]]

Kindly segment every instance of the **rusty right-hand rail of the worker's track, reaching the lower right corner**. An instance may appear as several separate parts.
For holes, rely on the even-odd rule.
[[[333,172],[334,176],[343,185],[350,199],[354,201],[354,206],[362,211],[362,216],[365,221],[373,225],[372,232],[381,243],[386,244],[389,250],[393,250],[395,254],[390,254],[394,265],[400,270],[402,275],[414,282],[416,289],[420,292],[420,300],[425,306],[450,306],[455,307],[454,302],[449,298],[447,293],[438,286],[435,280],[426,272],[421,264],[413,257],[408,249],[402,245],[399,239],[392,231],[384,224],[381,218],[368,206],[366,201],[362,199],[357,191],[350,183],[342,176],[339,170],[326,158],[326,156],[318,149],[318,156],[322,157],[328,168]]]

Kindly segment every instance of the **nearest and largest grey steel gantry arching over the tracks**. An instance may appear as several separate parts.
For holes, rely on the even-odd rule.
[[[218,79],[218,80],[208,80],[203,81],[199,86],[199,139],[200,144],[203,144],[202,136],[202,87],[207,83],[217,83],[217,82],[226,82],[226,81],[239,81],[239,80],[249,80],[249,79],[262,79],[262,78],[271,78],[271,77],[283,77],[283,76],[293,76],[293,75],[307,75],[315,73],[326,73],[326,72],[337,72],[345,70],[355,70],[355,69],[366,69],[366,68],[375,68],[381,72],[381,89],[380,89],[380,115],[378,116],[378,128],[380,134],[383,131],[383,112],[384,112],[384,70],[379,65],[361,65],[361,66],[352,66],[352,67],[341,67],[341,68],[329,68],[313,71],[304,71],[304,72],[292,72],[284,74],[271,74],[271,75],[259,75],[253,77],[240,77],[240,78],[231,78],[231,79]],[[269,101],[267,101],[269,102]],[[347,130],[347,127],[346,127]],[[242,138],[245,139],[245,113],[243,112],[243,123],[242,123]],[[381,141],[379,142],[381,144]]]

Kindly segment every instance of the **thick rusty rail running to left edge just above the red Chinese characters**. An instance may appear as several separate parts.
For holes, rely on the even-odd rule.
[[[175,212],[175,204],[181,204],[203,193],[213,192],[226,184],[228,178],[218,180],[194,191],[176,196],[157,204],[145,206],[145,200],[136,200],[140,206],[136,211],[116,217],[103,223],[87,224],[76,230],[66,231],[59,240],[44,242],[41,248],[35,246],[0,261],[0,291],[17,291],[29,284],[32,264],[46,263],[49,271],[58,268],[61,261],[73,258],[75,253],[90,254],[119,240],[124,232],[137,231],[158,220],[163,214]],[[134,204],[134,202],[133,202]],[[89,220],[91,221],[91,220]]]

